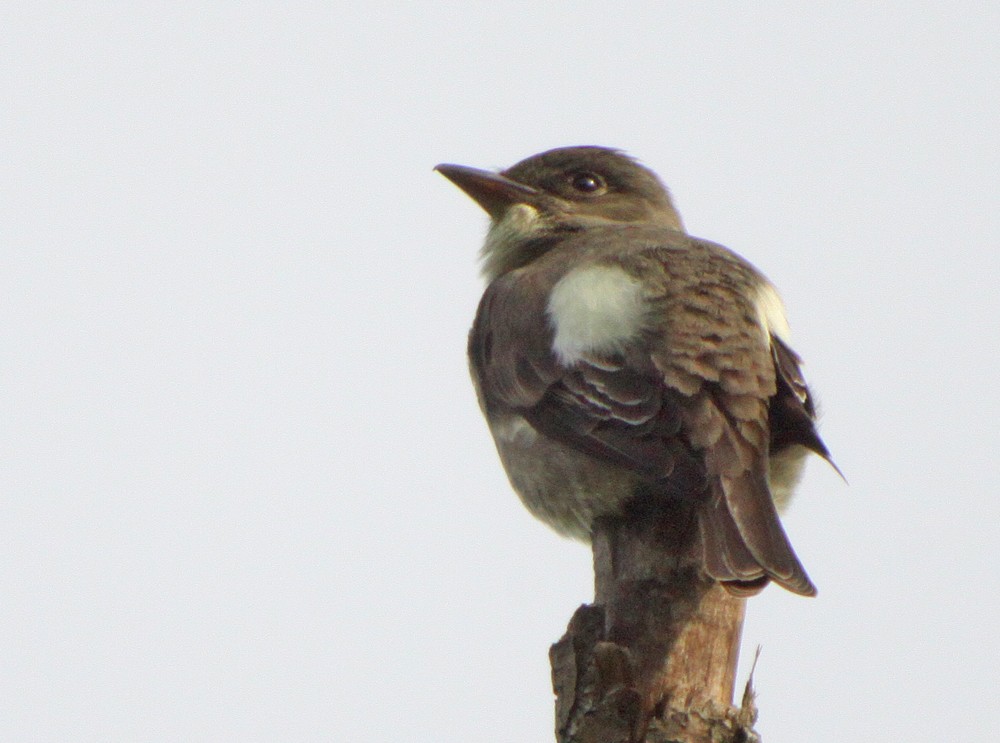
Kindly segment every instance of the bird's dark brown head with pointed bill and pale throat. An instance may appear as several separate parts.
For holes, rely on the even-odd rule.
[[[656,175],[606,147],[549,150],[500,173],[448,164],[436,170],[490,215],[483,246],[488,279],[525,265],[554,240],[586,227],[638,223],[683,229]]]

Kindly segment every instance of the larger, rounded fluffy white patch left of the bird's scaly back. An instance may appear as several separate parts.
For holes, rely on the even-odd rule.
[[[614,353],[642,330],[646,305],[641,282],[618,266],[570,271],[552,288],[552,350],[564,366],[588,352]]]

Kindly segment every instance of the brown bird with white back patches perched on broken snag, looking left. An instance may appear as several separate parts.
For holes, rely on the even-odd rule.
[[[687,234],[621,150],[435,170],[490,218],[469,365],[527,509],[588,541],[599,518],[687,503],[708,578],[815,595],[779,509],[810,452],[833,461],[775,286]]]

